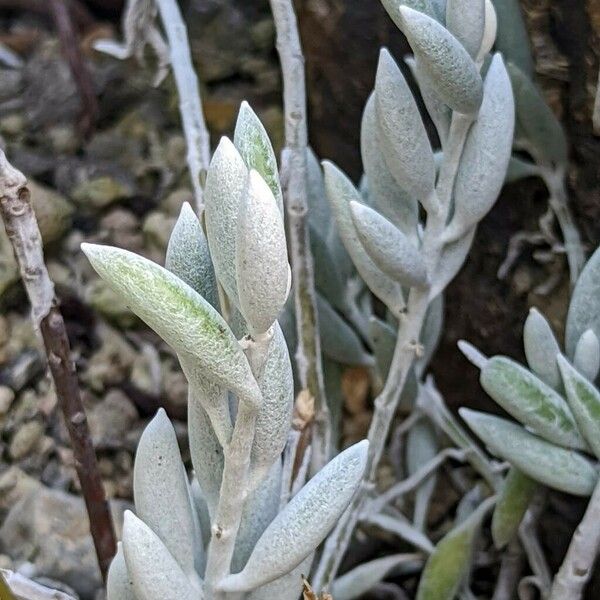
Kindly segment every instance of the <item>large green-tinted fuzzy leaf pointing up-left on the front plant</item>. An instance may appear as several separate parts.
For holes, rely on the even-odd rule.
[[[127,250],[95,244],[81,248],[129,308],[175,351],[194,356],[207,377],[240,398],[260,402],[260,391],[237,340],[200,294],[166,269]]]

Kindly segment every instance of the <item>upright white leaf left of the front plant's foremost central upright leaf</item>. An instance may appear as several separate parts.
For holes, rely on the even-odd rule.
[[[215,274],[235,306],[239,306],[235,274],[237,220],[247,186],[244,159],[228,138],[221,138],[206,176],[204,219]]]

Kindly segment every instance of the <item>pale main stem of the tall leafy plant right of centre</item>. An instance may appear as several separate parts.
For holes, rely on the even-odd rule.
[[[428,205],[437,207],[435,212],[430,212],[427,215],[421,246],[421,254],[427,265],[430,279],[435,274],[442,253],[442,233],[448,219],[454,179],[472,122],[473,118],[470,116],[453,114],[444,159],[434,192],[435,199],[428,202]],[[419,336],[431,300],[433,298],[430,298],[429,289],[411,288],[406,314],[402,315],[400,319],[390,371],[383,390],[375,399],[375,412],[368,435],[369,455],[365,477],[350,506],[325,543],[321,560],[313,578],[316,589],[327,590],[331,588],[333,578],[348,548],[354,528],[363,512],[365,500],[375,486],[385,442],[402,390],[418,351]]]

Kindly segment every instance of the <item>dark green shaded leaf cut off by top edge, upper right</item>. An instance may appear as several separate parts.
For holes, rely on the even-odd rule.
[[[527,76],[533,77],[535,69],[529,34],[525,28],[519,0],[493,0],[498,17],[496,50],[507,62],[519,67]]]

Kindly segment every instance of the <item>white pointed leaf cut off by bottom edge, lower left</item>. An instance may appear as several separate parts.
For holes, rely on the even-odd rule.
[[[136,598],[198,600],[196,588],[160,538],[131,511],[125,512],[123,553]]]

